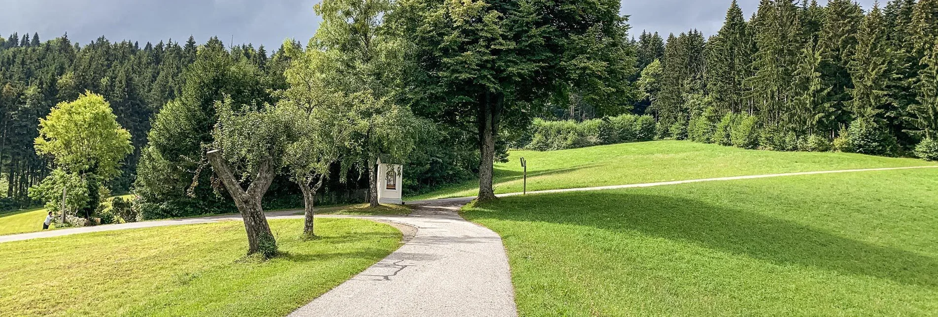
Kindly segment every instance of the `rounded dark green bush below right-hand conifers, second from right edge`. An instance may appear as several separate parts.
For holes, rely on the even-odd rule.
[[[840,142],[835,140],[842,152],[894,156],[899,148],[896,137],[869,119],[855,120],[845,132],[841,131]]]

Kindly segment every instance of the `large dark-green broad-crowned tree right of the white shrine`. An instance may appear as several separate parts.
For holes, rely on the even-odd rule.
[[[501,128],[526,125],[537,105],[578,93],[626,104],[635,59],[617,1],[403,0],[391,18],[414,50],[417,89],[438,119],[475,126],[478,199],[494,198]]]

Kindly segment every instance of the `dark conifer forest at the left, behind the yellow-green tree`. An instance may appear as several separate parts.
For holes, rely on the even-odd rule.
[[[104,37],[83,46],[72,43],[68,35],[45,42],[35,33],[0,38],[0,173],[7,184],[4,204],[31,204],[27,189],[50,172],[49,159],[38,157],[33,148],[38,119],[55,104],[74,100],[85,91],[107,98],[118,123],[130,131],[134,152],[123,164],[123,173],[110,184],[115,192],[126,192],[136,178],[153,114],[180,96],[186,83],[185,70],[195,62],[198,50],[193,38],[185,43],[172,39],[148,42],[143,47]],[[263,46],[255,50],[249,44],[224,51],[261,68],[268,59]]]

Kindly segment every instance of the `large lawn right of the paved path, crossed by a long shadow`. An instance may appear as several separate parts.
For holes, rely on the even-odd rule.
[[[854,166],[856,167],[856,166]],[[938,170],[503,198],[522,316],[938,314]]]

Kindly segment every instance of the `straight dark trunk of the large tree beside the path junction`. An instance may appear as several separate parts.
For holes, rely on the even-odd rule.
[[[498,135],[498,121],[501,115],[501,97],[492,98],[485,93],[485,100],[478,113],[478,144],[481,159],[478,166],[478,200],[495,199],[492,187],[492,174],[495,163],[495,136]]]

